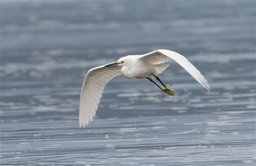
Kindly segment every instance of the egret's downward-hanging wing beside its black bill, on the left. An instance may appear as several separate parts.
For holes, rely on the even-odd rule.
[[[89,70],[84,78],[79,103],[79,126],[85,127],[96,114],[107,82],[121,74],[120,66],[99,66]]]

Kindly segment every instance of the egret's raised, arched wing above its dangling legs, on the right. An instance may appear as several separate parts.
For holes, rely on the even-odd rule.
[[[181,54],[170,50],[156,50],[146,53],[140,57],[141,60],[148,61],[152,65],[162,64],[171,59],[182,66],[194,79],[203,85],[210,92],[210,86],[204,76]]]

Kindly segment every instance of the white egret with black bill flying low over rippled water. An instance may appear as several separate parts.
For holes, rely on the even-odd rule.
[[[175,92],[165,85],[158,77],[169,65],[164,64],[169,60],[176,61],[188,73],[192,75],[207,91],[210,86],[204,76],[184,56],[170,50],[156,50],[143,55],[126,56],[117,62],[98,66],[89,70],[84,78],[79,102],[79,126],[85,127],[92,121],[96,114],[103,89],[112,78],[123,74],[126,78],[148,79],[161,91],[174,95]],[[155,77],[160,84],[157,84],[151,77]]]

